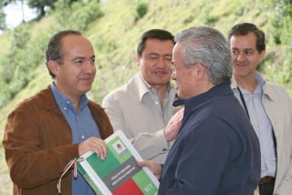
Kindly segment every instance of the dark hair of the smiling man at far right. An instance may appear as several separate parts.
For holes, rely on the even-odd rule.
[[[231,36],[245,36],[248,33],[254,33],[256,36],[256,49],[259,53],[266,50],[265,33],[257,26],[251,23],[241,23],[233,26],[228,34],[228,40]]]

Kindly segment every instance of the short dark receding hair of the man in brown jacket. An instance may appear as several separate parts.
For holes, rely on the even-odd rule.
[[[77,36],[82,36],[82,34],[78,31],[75,30],[64,30],[60,31],[54,36],[52,36],[48,42],[47,45],[47,51],[46,51],[46,65],[49,60],[57,60],[59,64],[62,64],[62,39],[65,36],[69,35],[77,35]],[[47,67],[49,75],[51,77],[55,77],[55,75],[49,70]]]

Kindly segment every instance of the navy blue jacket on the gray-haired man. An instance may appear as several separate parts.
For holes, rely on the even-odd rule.
[[[230,82],[184,100],[184,107],[159,194],[252,195],[260,179],[259,143]]]

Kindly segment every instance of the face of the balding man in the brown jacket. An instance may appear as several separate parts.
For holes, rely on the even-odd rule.
[[[62,39],[62,64],[51,62],[57,88],[71,100],[88,92],[95,78],[95,55],[84,36],[70,35]],[[73,98],[73,99],[72,99]]]

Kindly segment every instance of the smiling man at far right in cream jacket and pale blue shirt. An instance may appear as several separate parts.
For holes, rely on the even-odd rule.
[[[256,73],[266,53],[265,34],[254,24],[242,23],[230,30],[228,39],[235,78],[231,87],[261,147],[259,194],[291,194],[292,101],[283,87]]]

